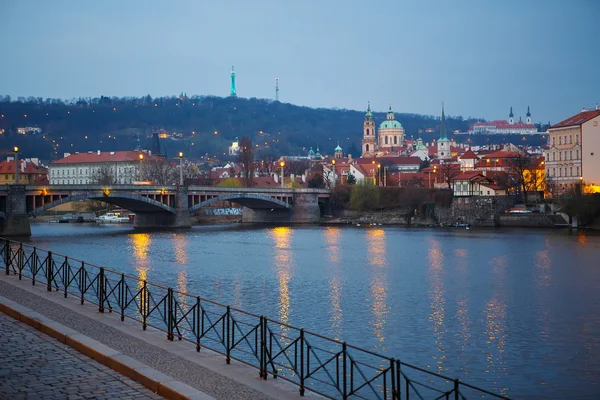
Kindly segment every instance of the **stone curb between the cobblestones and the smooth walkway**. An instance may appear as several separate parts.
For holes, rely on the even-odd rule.
[[[13,317],[59,342],[66,344],[102,365],[158,393],[170,400],[215,400],[183,382],[174,380],[146,364],[111,349],[110,347],[44,317],[27,307],[0,296],[0,312]]]

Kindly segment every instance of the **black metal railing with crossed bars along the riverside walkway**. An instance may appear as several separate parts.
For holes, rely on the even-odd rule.
[[[346,342],[298,329],[215,301],[139,280],[28,244],[4,239],[7,275],[31,279],[48,291],[75,296],[332,399],[454,399],[507,397]]]

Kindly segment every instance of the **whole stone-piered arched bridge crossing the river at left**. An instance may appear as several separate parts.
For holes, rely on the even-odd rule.
[[[0,186],[0,235],[30,236],[29,219],[61,204],[96,200],[135,213],[135,228],[190,228],[190,214],[220,201],[243,206],[243,222],[313,223],[327,189],[159,185]]]

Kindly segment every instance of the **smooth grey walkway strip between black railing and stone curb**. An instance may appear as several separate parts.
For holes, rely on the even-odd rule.
[[[0,273],[0,301],[2,297],[108,346],[156,374],[198,390],[206,397],[300,399],[298,388],[281,379],[262,380],[254,368],[233,360],[227,365],[223,356],[206,350],[197,353],[189,343],[170,342],[162,332],[143,331],[139,324],[128,320],[121,322],[115,314],[98,313],[97,306],[82,306],[76,298],[65,299],[61,292],[47,292],[45,285],[32,286],[30,280],[19,281],[14,275]]]

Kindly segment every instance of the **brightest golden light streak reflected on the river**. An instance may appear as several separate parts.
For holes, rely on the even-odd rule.
[[[279,320],[288,323],[290,318],[290,288],[292,278],[292,229],[277,227],[269,231],[275,243],[275,269],[279,280]]]

